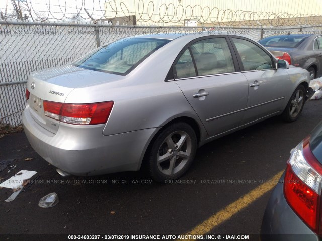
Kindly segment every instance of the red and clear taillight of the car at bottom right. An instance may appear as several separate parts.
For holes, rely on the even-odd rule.
[[[322,166],[309,148],[309,138],[292,151],[284,178],[284,194],[294,212],[319,233]]]

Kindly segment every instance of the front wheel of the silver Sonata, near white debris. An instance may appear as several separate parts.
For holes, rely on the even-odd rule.
[[[300,116],[305,103],[305,93],[306,89],[303,85],[297,86],[282,113],[282,118],[284,121],[294,122]]]

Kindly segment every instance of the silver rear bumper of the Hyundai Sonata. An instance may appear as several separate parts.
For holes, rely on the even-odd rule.
[[[38,125],[28,107],[22,114],[25,134],[47,162],[77,176],[137,171],[157,128],[104,136],[103,125],[72,126],[61,123],[53,134]]]

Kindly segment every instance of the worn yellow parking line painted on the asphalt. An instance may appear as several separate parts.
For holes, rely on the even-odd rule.
[[[258,198],[263,196],[265,193],[270,191],[277,184],[282,174],[283,171],[277,173],[267,182],[261,184],[257,188],[245,194],[243,197],[240,197],[238,200],[224,207],[219,212],[215,213],[210,218],[200,223],[198,226],[193,228],[188,233],[182,235],[205,235],[206,233],[210,232],[216,226],[220,225],[224,221],[227,221],[233,215],[238,213],[241,209],[247,207],[248,205],[256,201]]]

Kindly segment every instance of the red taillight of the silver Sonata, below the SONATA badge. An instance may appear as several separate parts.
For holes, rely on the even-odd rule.
[[[114,102],[68,104],[44,100],[45,115],[57,121],[75,125],[104,124],[110,116]]]

